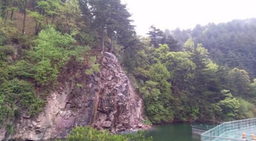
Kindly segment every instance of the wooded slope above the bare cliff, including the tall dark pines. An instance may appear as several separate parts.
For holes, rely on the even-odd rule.
[[[35,119],[65,81],[99,72],[103,52],[137,42],[120,0],[0,0],[0,8],[3,136],[20,119]]]

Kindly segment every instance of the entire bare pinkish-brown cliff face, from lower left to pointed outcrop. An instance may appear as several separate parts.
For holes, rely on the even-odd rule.
[[[76,125],[90,125],[111,132],[141,128],[142,99],[136,94],[118,59],[105,53],[96,75],[72,78],[52,92],[37,117],[23,114],[16,133],[6,139],[65,137]],[[5,132],[3,129],[1,133]]]

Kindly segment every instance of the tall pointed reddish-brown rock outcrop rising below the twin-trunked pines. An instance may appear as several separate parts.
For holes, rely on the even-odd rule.
[[[138,128],[142,100],[113,54],[105,53],[100,76],[97,78],[100,85],[96,94],[98,108],[94,113],[94,127],[109,128],[112,132]]]

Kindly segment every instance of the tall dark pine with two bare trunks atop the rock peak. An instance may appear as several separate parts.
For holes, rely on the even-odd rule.
[[[129,27],[131,15],[120,0],[89,0],[91,13],[94,15],[92,26],[97,29],[101,37],[102,53],[105,50],[105,35],[107,33],[111,42],[117,33],[122,34],[123,27]],[[111,43],[113,48],[113,43]],[[111,49],[112,50],[112,49]]]

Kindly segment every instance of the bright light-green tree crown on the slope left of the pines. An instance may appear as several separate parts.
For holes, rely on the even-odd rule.
[[[62,67],[70,59],[68,50],[76,40],[72,35],[62,35],[53,27],[47,27],[40,32],[35,42],[37,45],[29,51],[31,58],[37,62],[49,59],[52,63],[58,64],[58,67]]]

